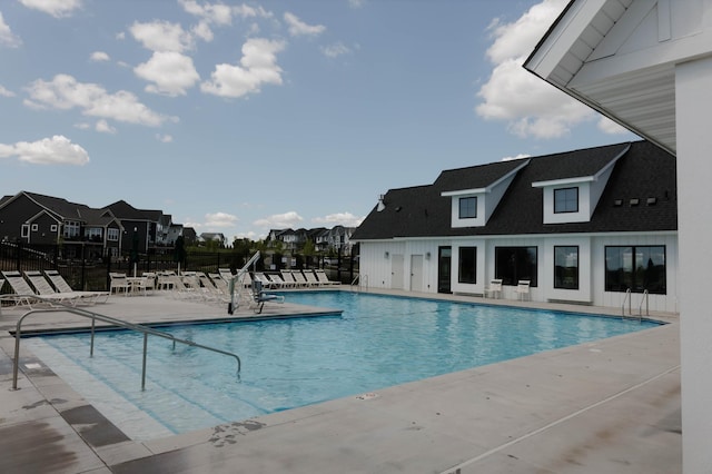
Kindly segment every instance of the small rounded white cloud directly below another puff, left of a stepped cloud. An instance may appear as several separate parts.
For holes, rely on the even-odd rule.
[[[147,92],[170,97],[185,96],[186,89],[200,80],[200,76],[188,56],[175,51],[156,51],[148,62],[134,68],[136,76],[154,82],[146,87]]]

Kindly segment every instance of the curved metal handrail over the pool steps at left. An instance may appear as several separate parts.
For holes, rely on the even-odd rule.
[[[241,369],[241,361],[239,358],[239,356],[237,354],[233,354],[229,353],[227,350],[221,350],[215,347],[210,347],[210,346],[205,346],[202,344],[198,344],[198,343],[194,343],[192,340],[188,340],[188,339],[181,339],[179,337],[174,336],[172,334],[169,333],[165,333],[162,330],[158,330],[158,329],[154,329],[151,327],[148,326],[144,326],[140,324],[134,324],[134,323],[129,323],[126,322],[123,319],[118,319],[111,316],[107,316],[107,315],[102,315],[99,313],[95,313],[95,312],[89,312],[86,309],[81,309],[78,308],[76,306],[69,306],[66,305],[61,302],[57,302],[55,299],[51,298],[43,298],[41,296],[38,295],[2,295],[0,296],[0,300],[2,299],[16,299],[16,298],[32,298],[32,299],[37,299],[43,303],[48,303],[51,304],[52,306],[55,306],[53,308],[42,308],[42,309],[30,309],[29,312],[27,312],[26,314],[23,314],[20,319],[18,319],[18,324],[16,327],[16,333],[14,333],[14,364],[12,367],[12,389],[17,391],[18,389],[18,367],[20,365],[20,339],[22,336],[22,322],[24,320],[26,317],[30,316],[31,314],[37,314],[37,313],[57,313],[57,312],[68,312],[68,313],[72,313],[76,314],[77,316],[82,316],[82,317],[87,317],[87,318],[91,318],[91,345],[90,345],[90,349],[89,349],[89,356],[93,356],[93,336],[95,336],[95,323],[96,320],[100,320],[103,323],[108,323],[108,324],[113,324],[116,326],[120,326],[120,327],[125,327],[127,329],[131,329],[131,330],[136,330],[139,333],[144,334],[144,359],[142,359],[142,368],[141,368],[141,389],[146,389],[146,355],[147,355],[147,350],[148,350],[148,335],[154,335],[154,336],[158,336],[158,337],[162,337],[166,339],[170,339],[174,343],[174,349],[176,348],[176,343],[180,343],[180,344],[185,344],[187,346],[191,346],[191,347],[198,347],[201,349],[206,349],[206,350],[210,350],[217,354],[222,354],[229,357],[234,357],[235,361],[237,361],[237,376],[239,377],[240,374],[240,369]]]

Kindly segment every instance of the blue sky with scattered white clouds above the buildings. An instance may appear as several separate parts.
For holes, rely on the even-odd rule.
[[[639,139],[522,68],[566,0],[2,0],[0,192],[356,227],[439,172]]]

